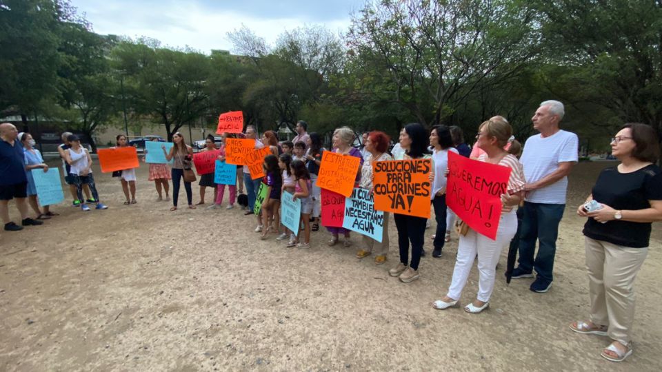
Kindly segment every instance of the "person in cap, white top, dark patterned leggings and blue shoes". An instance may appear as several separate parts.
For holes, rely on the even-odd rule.
[[[97,185],[94,184],[94,176],[92,176],[92,156],[88,149],[81,146],[81,140],[77,135],[72,134],[69,136],[68,141],[71,145],[65,152],[66,161],[70,165],[70,173],[72,182],[76,185],[76,195],[81,205],[82,211],[89,211],[90,207],[86,205],[86,200],[83,199],[83,185],[87,184],[92,192],[92,200],[97,203],[96,209],[108,209],[106,205],[99,201],[99,193],[97,192]]]

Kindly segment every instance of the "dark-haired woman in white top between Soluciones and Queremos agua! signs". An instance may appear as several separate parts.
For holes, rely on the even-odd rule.
[[[432,184],[432,207],[434,207],[434,220],[437,221],[437,233],[434,234],[434,250],[432,257],[441,257],[441,250],[445,242],[446,233],[446,178],[441,177],[448,169],[448,152],[458,154],[457,149],[453,147],[453,138],[450,130],[445,125],[435,125],[430,131],[430,146],[432,146],[432,163],[434,164],[434,174],[439,177],[434,178]]]

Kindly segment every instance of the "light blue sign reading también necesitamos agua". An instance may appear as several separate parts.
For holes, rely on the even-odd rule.
[[[381,242],[384,212],[374,209],[370,190],[354,188],[352,196],[345,198],[343,227]]]

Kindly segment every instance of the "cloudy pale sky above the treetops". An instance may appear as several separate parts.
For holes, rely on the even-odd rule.
[[[209,54],[232,50],[228,31],[246,25],[270,44],[281,32],[321,24],[344,32],[364,0],[72,0],[94,32],[146,36]]]

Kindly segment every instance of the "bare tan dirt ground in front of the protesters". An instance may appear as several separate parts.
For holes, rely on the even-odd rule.
[[[603,360],[607,338],[568,329],[589,305],[574,210],[607,164],[574,169],[550,292],[529,291],[530,279],[506,285],[504,251],[491,307],[478,315],[431,307],[450,283],[455,236],[405,285],[387,272],[398,262],[393,225],[386,265],[354,257],[357,234],[351,248],[327,247],[323,231],[310,249],[286,248],[259,240],[238,208],[168,211],[144,165],[139,203],[122,205],[119,181],[97,167],[110,209],[63,203],[42,227],[0,231],[0,370],[660,371],[660,225],[636,280],[632,357]],[[474,267],[461,302],[476,291]]]

